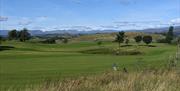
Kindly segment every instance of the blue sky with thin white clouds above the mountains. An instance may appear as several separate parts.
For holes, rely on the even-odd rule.
[[[170,25],[180,25],[180,0],[0,0],[0,30],[129,30]]]

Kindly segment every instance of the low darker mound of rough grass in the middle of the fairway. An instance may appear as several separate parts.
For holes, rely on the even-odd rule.
[[[89,49],[85,51],[80,51],[81,53],[87,54],[108,54],[108,55],[140,55],[142,52],[136,49],[130,50],[119,50],[119,49],[112,49],[112,48],[95,48]]]

